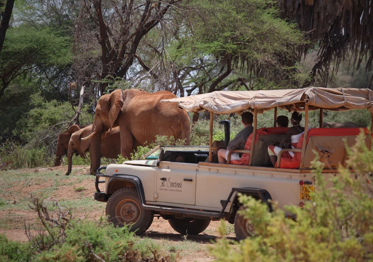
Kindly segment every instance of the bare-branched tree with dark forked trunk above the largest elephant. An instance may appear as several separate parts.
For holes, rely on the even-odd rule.
[[[74,67],[81,82],[98,80],[97,95],[126,79],[141,39],[179,0],[83,0],[75,25]]]

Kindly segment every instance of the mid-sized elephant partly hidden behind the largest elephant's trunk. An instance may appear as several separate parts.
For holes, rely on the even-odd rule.
[[[81,140],[92,133],[92,125],[84,127],[71,135],[68,147],[68,171],[66,176],[71,173],[71,161],[73,153],[83,153],[91,151],[91,139]],[[107,158],[118,158],[120,155],[120,131],[119,126],[113,127],[112,131],[108,130],[104,133],[100,143],[100,155]],[[90,158],[92,154],[90,152]],[[92,159],[91,159],[92,163]],[[92,169],[92,164],[91,168]],[[95,170],[90,170],[90,173],[95,173]]]

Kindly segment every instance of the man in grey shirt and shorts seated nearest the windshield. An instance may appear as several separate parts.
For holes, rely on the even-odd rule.
[[[244,124],[244,129],[237,133],[237,135],[229,142],[227,149],[219,149],[217,151],[217,157],[219,163],[225,164],[227,162],[228,153],[234,149],[244,149],[247,138],[253,133],[253,120],[254,116],[250,112],[244,112],[241,115],[242,124]],[[242,154],[233,152],[231,155],[231,160],[239,160]]]

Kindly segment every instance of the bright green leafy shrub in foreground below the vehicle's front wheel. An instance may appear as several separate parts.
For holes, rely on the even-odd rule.
[[[98,261],[96,255],[104,261],[152,261],[151,250],[158,248],[150,241],[138,241],[127,227],[116,228],[104,220],[100,224],[73,220],[65,233],[63,244],[41,252],[37,260]]]

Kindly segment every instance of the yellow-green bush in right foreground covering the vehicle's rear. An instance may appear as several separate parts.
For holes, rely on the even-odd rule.
[[[329,181],[322,174],[323,164],[314,161],[316,190],[303,208],[288,206],[297,219],[285,218],[276,207],[250,196],[241,196],[247,207],[242,214],[254,225],[255,236],[232,248],[224,237],[212,253],[217,261],[369,261],[373,259],[373,152],[361,134],[348,150],[348,167]],[[223,227],[225,228],[225,227]],[[223,232],[224,233],[224,232]]]

